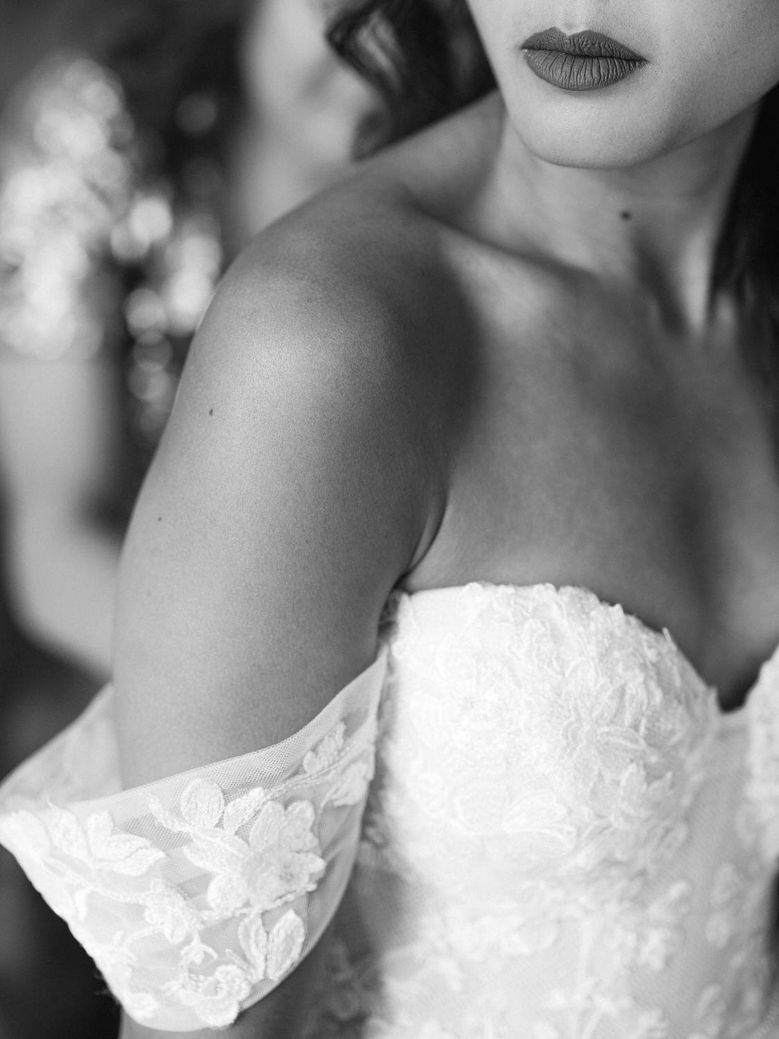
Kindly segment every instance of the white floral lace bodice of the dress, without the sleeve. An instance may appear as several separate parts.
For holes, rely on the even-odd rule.
[[[584,589],[401,594],[384,624],[359,1019],[393,1039],[746,1037],[770,879],[741,832],[746,716],[723,723],[668,633]]]

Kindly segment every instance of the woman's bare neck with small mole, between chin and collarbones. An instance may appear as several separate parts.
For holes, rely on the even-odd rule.
[[[651,162],[623,169],[553,165],[504,116],[481,221],[501,244],[648,293],[664,323],[703,330],[717,246],[757,109]]]

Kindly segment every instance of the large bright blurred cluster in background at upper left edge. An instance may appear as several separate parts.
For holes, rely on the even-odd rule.
[[[83,57],[30,74],[0,135],[0,348],[41,361],[93,356],[117,321],[105,263],[133,195],[134,133],[122,88]]]

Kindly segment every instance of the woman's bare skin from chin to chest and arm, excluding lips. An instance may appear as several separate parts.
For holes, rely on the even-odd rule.
[[[473,7],[500,96],[261,236],[195,341],[124,556],[128,784],[299,729],[397,585],[588,587],[724,708],[779,642],[774,403],[710,292],[779,7]],[[552,26],[648,64],[563,92],[517,50]],[[222,1034],[295,1035],[316,971]]]

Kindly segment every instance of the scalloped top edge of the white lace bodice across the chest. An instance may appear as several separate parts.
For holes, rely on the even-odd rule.
[[[668,640],[673,646],[674,652],[678,656],[679,660],[690,669],[692,674],[695,675],[697,682],[706,690],[707,694],[713,697],[717,714],[720,719],[720,724],[723,726],[741,726],[745,721],[748,710],[753,702],[753,694],[762,685],[768,670],[775,664],[779,663],[779,643],[774,647],[773,651],[762,661],[760,664],[754,682],[751,683],[746,691],[744,702],[730,711],[726,711],[720,701],[720,689],[718,686],[713,685],[703,677],[698,668],[693,664],[690,658],[687,656],[684,650],[679,646],[676,639],[673,637],[668,628],[663,628],[662,630],[654,628],[652,624],[647,623],[642,620],[637,614],[632,613],[626,610],[621,603],[610,603],[606,598],[601,598],[597,592],[594,592],[591,588],[586,585],[572,585],[572,584],[561,584],[557,585],[552,581],[537,581],[531,584],[514,584],[511,581],[468,581],[465,584],[459,585],[444,585],[439,588],[418,588],[415,591],[408,591],[404,588],[396,589],[396,593],[400,594],[406,598],[417,598],[420,595],[434,595],[440,594],[441,592],[457,592],[461,593],[467,591],[472,588],[481,589],[494,589],[502,591],[513,591],[517,593],[529,594],[535,591],[548,591],[555,595],[564,596],[571,592],[580,595],[585,595],[589,598],[592,605],[598,610],[619,610],[623,616],[627,617],[633,621],[642,632],[648,635],[652,639],[656,640]]]

